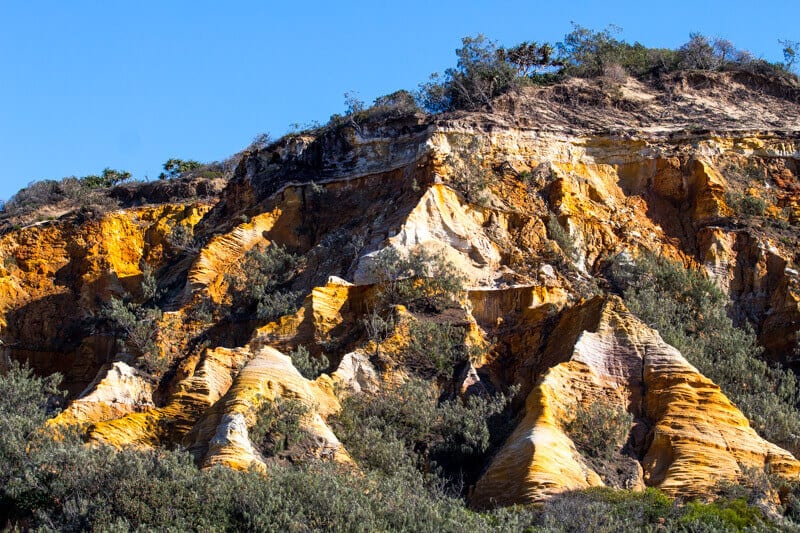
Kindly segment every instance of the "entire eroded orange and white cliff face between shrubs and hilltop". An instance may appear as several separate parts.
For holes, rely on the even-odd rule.
[[[686,82],[676,90],[694,102],[688,118],[659,122],[654,109],[666,108],[631,84],[622,94],[639,101],[639,122],[635,106],[612,106],[605,122],[600,114],[570,127],[575,109],[542,107],[536,93],[494,115],[353,123],[245,153],[213,205],[7,232],[4,352],[66,376],[71,403],[54,422],[83,425],[90,439],[180,445],[203,467],[244,469],[265,461],[248,437],[254,413],[286,398],[306,407],[312,444],[303,455],[351,463],[329,417],[343,395],[405,375],[380,354],[402,349],[408,330],[398,323],[382,344],[364,334],[375,262],[387,248],[423,249],[467,280],[467,342],[489,347],[444,388],[518,385],[524,398],[516,429],[474,487],[476,506],[614,484],[565,430],[578,404],[595,402],[633,417],[630,475],[618,485],[693,497],[753,468],[797,478],[791,453],[757,435],[725,391],[597,280],[623,252],[677,259],[716,281],[769,357],[795,362],[800,107],[771,96],[794,114],[767,128],[769,117],[710,105],[713,86]],[[713,131],[687,123],[703,116],[698,109]],[[763,206],[745,216],[745,198]],[[176,225],[192,229],[196,249],[170,241]],[[245,254],[267,244],[304,257],[291,287],[304,297],[299,310],[274,321],[203,317],[204,302],[230,298],[228,274]],[[93,320],[112,296],[140,297],[145,269],[162,289],[157,341],[169,355],[155,375]],[[299,346],[324,354],[330,375],[304,378],[287,357]]]

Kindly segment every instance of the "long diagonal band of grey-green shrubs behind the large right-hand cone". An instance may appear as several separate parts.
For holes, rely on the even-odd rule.
[[[647,254],[618,257],[609,279],[630,311],[718,384],[760,435],[800,452],[797,378],[761,359],[756,336],[733,325],[727,298],[711,280]]]

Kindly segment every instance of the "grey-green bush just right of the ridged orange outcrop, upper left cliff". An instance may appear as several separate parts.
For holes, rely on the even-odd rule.
[[[274,320],[297,310],[299,293],[287,288],[304,259],[272,244],[248,251],[233,272],[225,276],[230,286],[231,315],[237,319]]]

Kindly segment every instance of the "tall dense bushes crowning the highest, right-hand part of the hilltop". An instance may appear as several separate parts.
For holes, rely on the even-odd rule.
[[[620,28],[590,30],[573,25],[558,43],[523,42],[503,48],[483,35],[465,37],[456,50],[458,63],[434,74],[420,87],[418,100],[430,112],[465,109],[493,110],[493,100],[512,89],[531,84],[551,84],[570,77],[633,76],[655,81],[681,70],[742,71],[796,83],[792,73],[797,43],[781,41],[785,63],[770,63],[726,39],[699,33],[676,50],[648,48],[618,39]]]

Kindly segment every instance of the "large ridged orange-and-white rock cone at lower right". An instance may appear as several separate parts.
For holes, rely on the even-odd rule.
[[[590,324],[589,329],[583,329]],[[602,402],[631,415],[629,442],[641,479],[687,497],[708,494],[747,469],[800,474],[800,462],[766,442],[713,382],[618,299],[597,298],[564,314],[548,347],[565,360],[529,394],[525,417],[475,487],[479,507],[533,502],[604,485],[565,428],[576,403]]]

